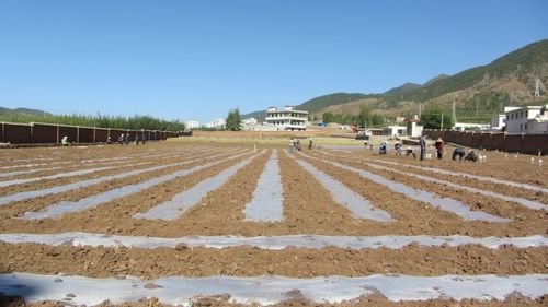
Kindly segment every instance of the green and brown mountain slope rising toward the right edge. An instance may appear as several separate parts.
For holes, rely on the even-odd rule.
[[[534,97],[536,80],[543,95]],[[383,94],[334,93],[297,106],[317,118],[324,111],[357,114],[362,106],[387,116],[410,116],[423,106],[438,105],[449,110],[455,102],[457,117],[486,120],[509,105],[548,103],[548,39],[533,43],[502,56],[489,64],[470,68],[455,75],[441,74],[419,85],[406,83]],[[346,99],[346,102],[345,102]]]

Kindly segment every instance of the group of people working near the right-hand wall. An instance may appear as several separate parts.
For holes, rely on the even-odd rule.
[[[419,146],[420,146],[420,160],[423,161],[426,158],[425,137],[420,138]],[[438,160],[442,160],[445,154],[445,142],[442,140],[442,138],[437,138],[437,140],[434,142],[434,147],[436,149],[436,157]],[[387,154],[387,149],[388,149],[387,142],[381,142],[379,145],[379,155]],[[413,157],[416,157],[416,154],[411,146],[407,146],[406,150],[403,151],[403,145],[399,141],[397,141],[393,144],[393,150],[395,154],[398,156],[402,156],[404,153],[406,156],[412,155]],[[469,150],[468,153],[466,153],[463,147],[456,147],[453,151],[452,158],[456,161],[457,157],[459,158],[459,161],[461,161],[463,158],[465,161],[471,161],[471,162],[478,161],[478,154],[473,150]]]

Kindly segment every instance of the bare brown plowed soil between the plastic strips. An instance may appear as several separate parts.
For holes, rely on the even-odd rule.
[[[473,174],[514,182],[548,188],[546,167],[530,164],[532,156],[503,153],[482,153],[487,163],[455,162],[398,157],[392,154],[379,156],[373,151],[336,151],[332,149],[304,150],[302,154],[289,154],[277,147],[279,173],[284,188],[284,220],[276,223],[244,221],[242,212],[251,201],[263,167],[275,146],[259,146],[256,152],[249,144],[218,144],[191,142],[150,142],[146,145],[109,145],[89,147],[16,149],[0,151],[0,173],[60,166],[60,169],[0,178],[1,181],[34,178],[54,174],[113,166],[107,170],[12,185],[0,189],[0,196],[62,186],[83,179],[99,178],[133,169],[196,160],[192,163],[146,172],[139,175],[109,180],[90,187],[61,193],[47,194],[0,205],[0,233],[55,234],[88,232],[126,236],[181,237],[192,235],[273,236],[295,234],[379,236],[379,235],[467,235],[473,237],[521,237],[548,235],[548,211],[534,210],[495,197],[481,196],[443,184],[425,182],[403,173],[419,174],[470,186],[500,194],[518,197],[548,205],[548,194],[510,187],[491,181],[481,181],[460,176],[436,174],[406,165],[439,168]],[[187,169],[224,157],[242,153],[240,157],[222,161],[210,167],[169,180],[138,193],[113,199],[95,208],[67,213],[56,219],[26,221],[19,217],[28,211],[39,211],[59,201],[78,201],[114,188],[142,182],[175,170]],[[230,180],[204,197],[197,205],[173,221],[135,220],[132,216],[174,196],[189,190],[204,179],[216,176],[239,161],[253,157],[252,162]],[[48,160],[44,160],[48,158]],[[117,158],[117,160],[113,160]],[[537,157],[534,157],[537,158]],[[85,162],[85,160],[95,160]],[[369,200],[372,205],[388,212],[393,222],[381,223],[352,217],[351,212],[336,203],[329,190],[304,170],[296,162],[304,160],[330,177],[341,181],[353,191]],[[393,192],[383,185],[364,179],[354,172],[335,167],[327,161],[338,162],[357,169],[380,175],[389,180],[404,184],[418,190],[433,192],[495,216],[510,219],[509,223],[467,221],[457,214],[412,200]],[[379,162],[380,161],[380,162]],[[381,161],[402,165],[383,164]],[[69,164],[54,164],[69,162]],[[386,166],[393,170],[379,170],[365,163]],[[36,164],[36,166],[32,166]],[[41,165],[37,165],[41,164]],[[282,250],[264,250],[249,246],[224,249],[205,247],[173,248],[104,248],[46,246],[39,244],[7,244],[0,241],[0,273],[28,272],[37,274],[69,273],[93,278],[135,275],[157,279],[170,275],[184,276],[258,276],[284,275],[315,278],[323,275],[363,276],[370,274],[410,274],[434,276],[443,274],[548,274],[548,247],[516,248],[503,246],[489,249],[482,246],[425,247],[410,245],[401,249],[342,249],[326,247],[308,249],[287,247]],[[3,299],[3,300],[2,300]],[[236,306],[226,297],[208,297],[197,306]],[[357,302],[338,306],[547,306],[547,296],[532,300],[509,297],[504,302],[445,300],[389,302],[380,296],[363,297]],[[11,305],[9,305],[11,304]],[[0,297],[0,306],[21,306],[16,298]],[[31,304],[27,306],[56,306],[57,303]],[[201,305],[202,304],[202,305]],[[149,299],[132,303],[132,306],[160,306],[161,302]],[[283,306],[317,305],[296,297]],[[101,306],[111,306],[103,303]]]

